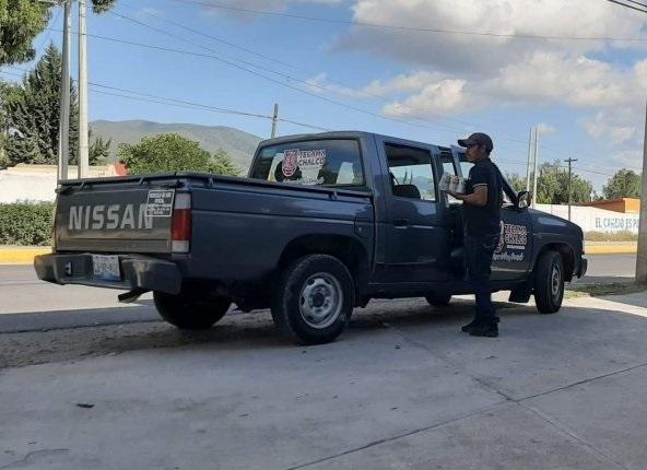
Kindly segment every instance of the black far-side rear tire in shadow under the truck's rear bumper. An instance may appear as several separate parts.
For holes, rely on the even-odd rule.
[[[180,330],[208,330],[225,316],[232,305],[227,297],[197,289],[185,290],[177,295],[154,292],[153,299],[162,318]]]

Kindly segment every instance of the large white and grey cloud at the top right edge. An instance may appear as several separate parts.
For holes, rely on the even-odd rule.
[[[644,16],[612,3],[591,0],[355,0],[356,22],[440,28],[454,32],[530,36],[647,37]],[[622,32],[622,33],[619,33]],[[613,43],[614,47],[643,47]],[[525,39],[464,34],[353,27],[337,49],[361,49],[399,62],[445,72],[495,73],[538,51],[580,55],[601,50],[603,42]]]

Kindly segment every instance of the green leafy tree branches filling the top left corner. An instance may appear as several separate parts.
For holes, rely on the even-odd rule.
[[[103,13],[115,2],[92,0],[92,10]],[[37,0],[0,0],[0,66],[34,59],[32,43],[47,27],[52,8]]]

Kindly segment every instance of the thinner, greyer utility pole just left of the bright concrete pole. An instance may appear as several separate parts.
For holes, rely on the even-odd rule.
[[[72,1],[63,4],[63,50],[60,89],[58,180],[68,179],[70,157],[70,40],[72,38]]]

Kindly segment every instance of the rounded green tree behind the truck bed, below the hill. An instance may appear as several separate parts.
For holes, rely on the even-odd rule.
[[[176,133],[143,138],[139,143],[119,145],[119,161],[130,174],[157,172],[205,172],[237,175],[238,169],[222,149],[214,155],[200,143]]]

